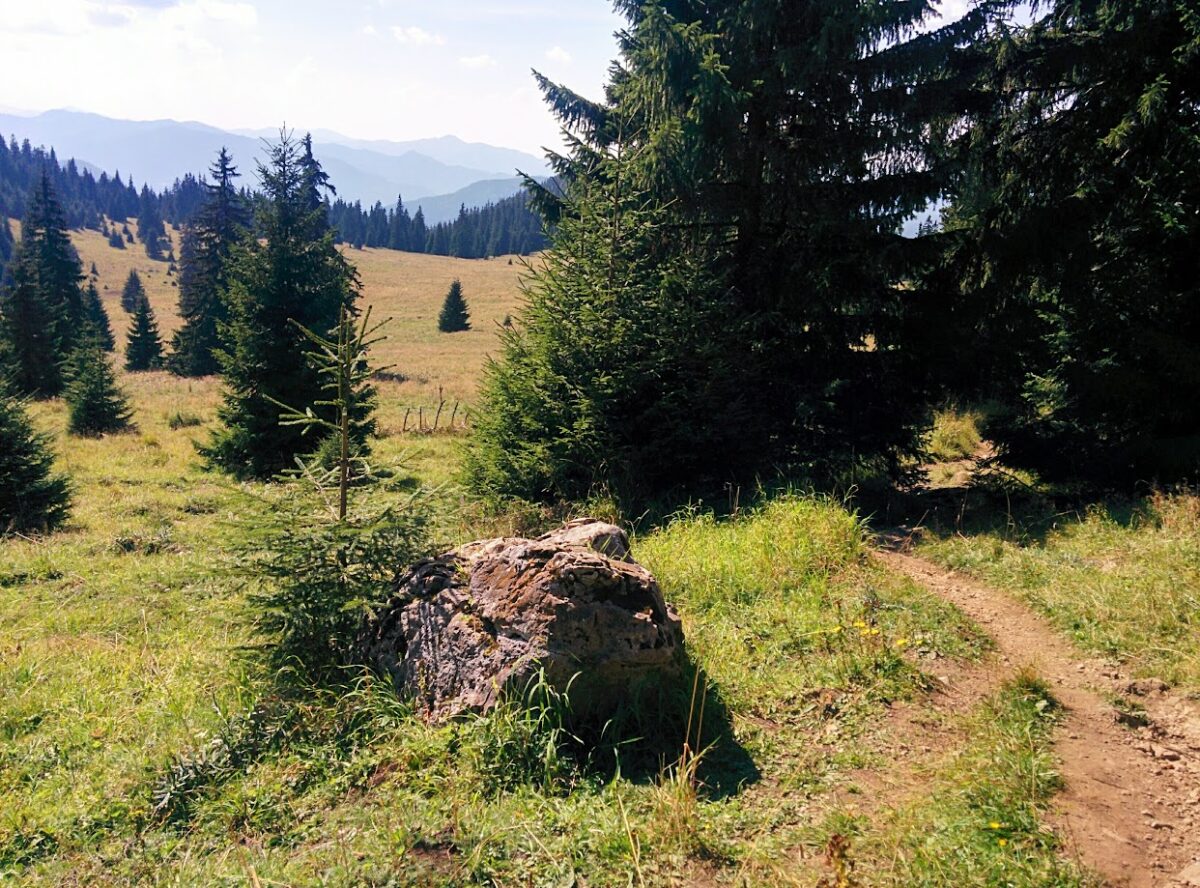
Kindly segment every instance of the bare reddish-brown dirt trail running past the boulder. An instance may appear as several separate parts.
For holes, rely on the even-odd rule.
[[[1056,744],[1066,790],[1055,826],[1085,865],[1111,886],[1200,888],[1200,708],[1160,682],[1134,682],[1081,656],[1003,593],[901,551],[878,557],[995,640],[998,656],[986,679],[962,670],[946,677],[960,696],[976,697],[1006,678],[1003,670],[1024,666],[1050,683],[1066,709]],[[1116,697],[1134,702],[1134,710],[1122,716]]]

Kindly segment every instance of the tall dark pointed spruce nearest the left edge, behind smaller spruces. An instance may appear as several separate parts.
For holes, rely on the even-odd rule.
[[[62,391],[60,364],[83,330],[83,266],[67,235],[49,175],[28,202],[20,245],[0,298],[0,352],[12,384],[25,395]]]

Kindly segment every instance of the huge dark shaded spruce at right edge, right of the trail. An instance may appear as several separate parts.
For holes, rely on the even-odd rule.
[[[936,275],[970,294],[943,318],[947,344],[968,346],[950,350],[952,383],[1000,404],[986,432],[1009,464],[1103,484],[1194,479],[1195,4],[1052,0],[1034,12],[982,44],[967,174]]]

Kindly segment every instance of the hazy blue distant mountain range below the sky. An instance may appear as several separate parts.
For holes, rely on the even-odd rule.
[[[244,181],[253,185],[263,138],[278,131],[229,132],[205,124],[175,120],[114,120],[76,110],[36,115],[0,114],[0,133],[54,148],[61,162],[74,157],[83,167],[122,176],[138,186],[166,188],[186,173],[203,173],[217,151],[228,148]],[[394,206],[397,196],[415,212],[420,206],[430,224],[455,218],[458,208],[481,206],[516,193],[517,170],[547,175],[546,162],[534,155],[467,143],[452,136],[415,142],[368,142],[326,130],[313,131],[313,150],[337,193],[365,206],[377,200]]]

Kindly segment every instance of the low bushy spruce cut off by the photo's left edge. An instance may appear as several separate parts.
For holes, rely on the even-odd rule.
[[[49,436],[0,380],[0,534],[53,530],[66,521],[71,487],[54,473]]]

